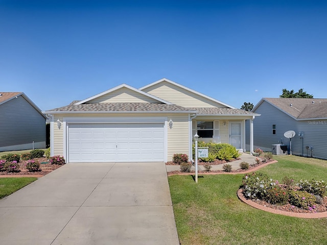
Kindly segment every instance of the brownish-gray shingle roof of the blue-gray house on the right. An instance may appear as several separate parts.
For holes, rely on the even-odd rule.
[[[327,117],[327,99],[306,99],[306,98],[263,98],[263,99],[297,119]]]

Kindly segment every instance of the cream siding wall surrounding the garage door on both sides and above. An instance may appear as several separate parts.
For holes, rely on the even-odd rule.
[[[167,117],[173,120],[173,128],[167,128],[167,152],[168,161],[172,161],[174,153],[185,153],[189,155],[189,115],[188,114],[57,114],[54,115],[54,155],[63,155],[63,124],[60,130],[57,120],[63,122],[63,117]],[[168,124],[168,123],[167,123]],[[67,133],[67,132],[66,132]]]

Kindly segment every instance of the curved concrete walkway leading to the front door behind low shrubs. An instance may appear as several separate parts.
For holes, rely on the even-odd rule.
[[[248,164],[255,163],[255,159],[257,157],[254,157],[254,156],[252,156],[250,154],[247,154],[247,153],[242,153],[242,155],[239,158],[241,160],[236,160],[236,161],[232,161],[232,162],[227,163],[227,164],[231,165],[232,170],[240,169],[240,163],[241,162],[247,162]],[[224,164],[212,165],[211,170],[223,170],[223,165]],[[167,172],[169,172],[169,171],[179,171],[180,166],[179,165],[166,165],[166,169],[167,169]],[[192,166],[191,170],[195,171],[195,166]],[[203,167],[203,165],[198,165],[198,170],[199,171],[202,171],[202,170],[204,171],[205,168]]]

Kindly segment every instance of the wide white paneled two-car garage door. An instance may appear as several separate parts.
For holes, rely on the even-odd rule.
[[[164,124],[69,124],[69,162],[164,161]]]

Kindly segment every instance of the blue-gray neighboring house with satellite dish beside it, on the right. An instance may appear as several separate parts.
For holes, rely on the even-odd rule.
[[[290,139],[284,133],[292,130],[292,155],[327,159],[327,99],[263,98],[252,112],[261,114],[253,120],[254,149],[271,152],[273,144],[282,143],[290,154]]]

